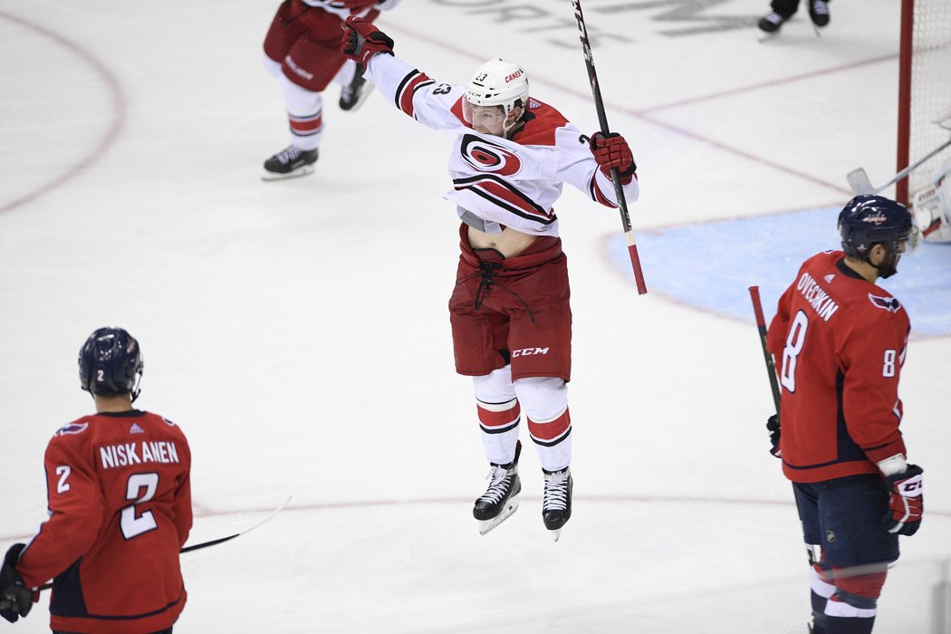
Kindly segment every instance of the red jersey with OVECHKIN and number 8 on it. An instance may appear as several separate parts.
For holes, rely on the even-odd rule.
[[[876,463],[905,452],[898,384],[909,330],[899,300],[849,269],[842,251],[805,261],[767,336],[786,477],[878,473]]]

